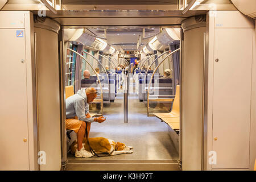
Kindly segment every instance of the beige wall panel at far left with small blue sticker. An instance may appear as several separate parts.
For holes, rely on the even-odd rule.
[[[32,14],[0,11],[0,22],[0,169],[35,170],[38,164]]]

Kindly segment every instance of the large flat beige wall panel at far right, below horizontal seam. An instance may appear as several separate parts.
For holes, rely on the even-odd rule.
[[[249,168],[252,39],[251,28],[214,31],[214,168]]]

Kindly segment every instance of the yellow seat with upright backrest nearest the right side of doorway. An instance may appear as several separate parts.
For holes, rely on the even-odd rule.
[[[154,115],[160,119],[180,117],[180,85],[176,85],[176,93],[174,97],[174,104],[172,104],[172,111],[170,113],[154,113]]]

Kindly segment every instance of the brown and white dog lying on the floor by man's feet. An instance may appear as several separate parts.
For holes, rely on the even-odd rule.
[[[86,138],[82,140],[84,148],[86,151],[90,152],[90,148],[88,146]],[[96,137],[89,138],[90,147],[96,152],[96,154],[108,153],[110,155],[118,155],[118,154],[131,154],[133,151],[131,149],[133,147],[126,146],[121,142],[114,142],[113,140],[104,138],[104,137]],[[75,140],[71,144],[71,154],[75,154],[77,149],[77,140]]]

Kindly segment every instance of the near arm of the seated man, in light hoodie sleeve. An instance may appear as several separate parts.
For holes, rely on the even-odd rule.
[[[84,100],[82,99],[76,100],[74,104],[75,104],[76,115],[79,120],[89,122],[89,123],[94,121],[94,118],[86,118]]]

